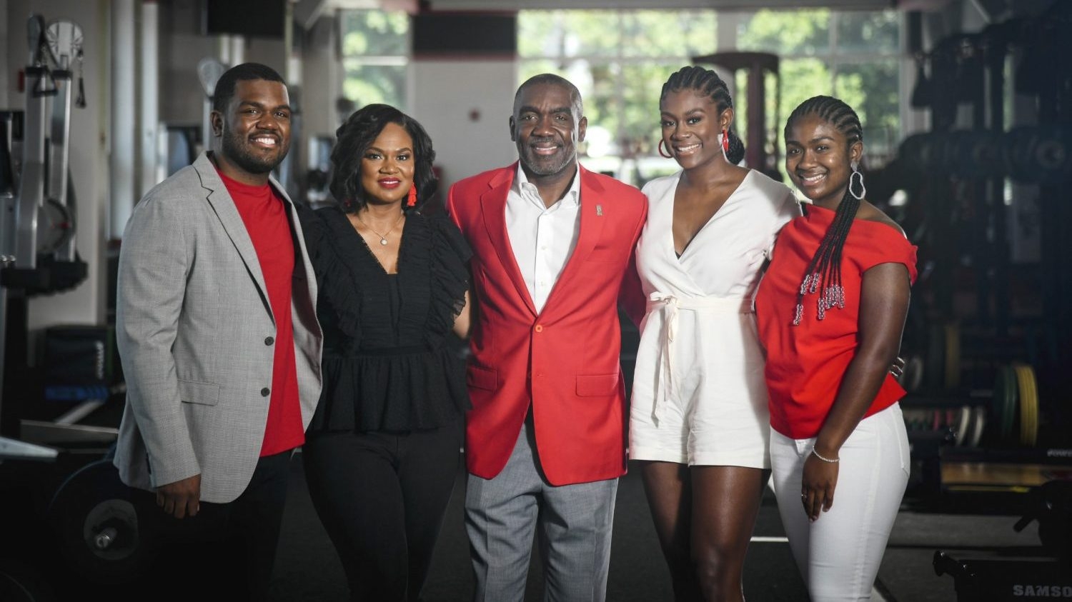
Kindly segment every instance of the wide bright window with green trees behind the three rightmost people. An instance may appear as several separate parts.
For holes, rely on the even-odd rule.
[[[798,104],[833,94],[857,109],[868,161],[881,165],[902,137],[902,29],[893,10],[521,11],[518,81],[550,72],[577,85],[589,117],[590,155],[651,157],[659,139],[662,82],[691,57],[718,50],[720,35],[721,48],[780,57],[780,99],[773,80],[766,92],[772,147]],[[744,77],[739,74],[733,97],[740,132]],[[776,151],[780,156],[783,149]]]

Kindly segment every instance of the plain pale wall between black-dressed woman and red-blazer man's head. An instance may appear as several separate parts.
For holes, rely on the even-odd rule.
[[[435,144],[444,193],[462,178],[517,160],[509,129],[516,72],[513,60],[413,63],[410,106]]]

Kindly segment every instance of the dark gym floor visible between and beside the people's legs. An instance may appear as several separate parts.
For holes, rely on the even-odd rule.
[[[272,602],[344,600],[345,577],[303,484],[301,463],[293,463]],[[425,588],[427,602],[471,599],[468,547],[462,524],[464,473],[460,472]],[[894,526],[873,600],[939,602],[957,600],[955,581],[938,576],[935,551],[979,554],[1041,555],[1038,523],[1013,530],[1018,516],[939,514],[902,510]],[[768,491],[749,546],[744,589],[749,600],[806,601],[807,593],[785,541],[773,494]],[[538,555],[534,554],[534,558]],[[525,600],[540,600],[538,560],[530,571]],[[643,485],[637,469],[621,481],[608,582],[609,602],[673,599],[670,577],[655,538]]]

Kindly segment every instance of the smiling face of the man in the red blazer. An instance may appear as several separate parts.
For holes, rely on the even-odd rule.
[[[513,102],[510,139],[518,146],[525,176],[530,180],[571,176],[577,142],[584,140],[587,124],[567,88],[554,84],[522,88]]]

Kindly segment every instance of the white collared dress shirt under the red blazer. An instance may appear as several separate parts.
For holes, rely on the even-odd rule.
[[[506,232],[536,313],[544,311],[554,283],[577,246],[580,209],[580,168],[566,194],[547,207],[536,184],[525,178],[518,164],[518,175],[506,195]]]

